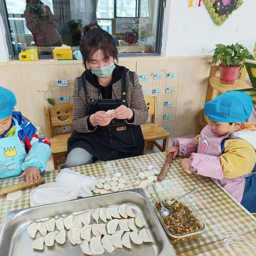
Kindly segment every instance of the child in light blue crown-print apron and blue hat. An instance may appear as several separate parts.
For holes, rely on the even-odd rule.
[[[0,179],[25,176],[34,183],[45,171],[50,142],[19,111],[15,95],[0,86]]]

